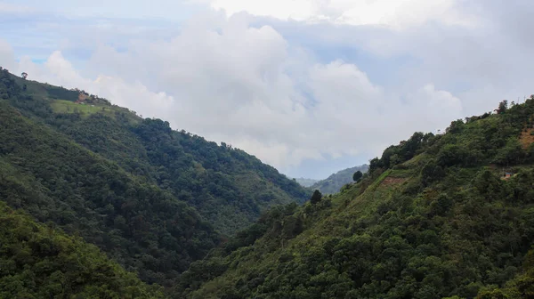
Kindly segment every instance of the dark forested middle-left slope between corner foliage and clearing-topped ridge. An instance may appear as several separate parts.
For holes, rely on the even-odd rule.
[[[170,283],[218,242],[187,204],[3,102],[0,140],[0,198],[79,233],[145,281]]]

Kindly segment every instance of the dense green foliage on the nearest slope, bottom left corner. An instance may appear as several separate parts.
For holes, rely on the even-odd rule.
[[[0,202],[0,298],[163,298],[96,246]]]

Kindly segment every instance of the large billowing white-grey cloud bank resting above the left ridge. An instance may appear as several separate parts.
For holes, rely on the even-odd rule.
[[[379,154],[415,130],[448,125],[461,110],[457,98],[432,85],[402,102],[356,65],[313,61],[273,28],[249,27],[247,18],[192,21],[170,41],[135,42],[127,52],[99,45],[87,73],[94,77],[60,52],[42,66],[27,59],[20,67],[32,78],[97,93],[282,169],[303,159]]]

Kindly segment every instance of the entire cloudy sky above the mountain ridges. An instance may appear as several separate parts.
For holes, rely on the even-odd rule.
[[[530,0],[0,0],[0,65],[289,176],[534,93]]]

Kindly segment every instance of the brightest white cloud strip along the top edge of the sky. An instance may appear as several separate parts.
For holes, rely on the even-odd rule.
[[[456,9],[457,0],[212,0],[211,7],[232,15],[248,12],[281,20],[330,21],[350,25],[384,25],[405,28],[440,21],[473,25],[473,15]]]

